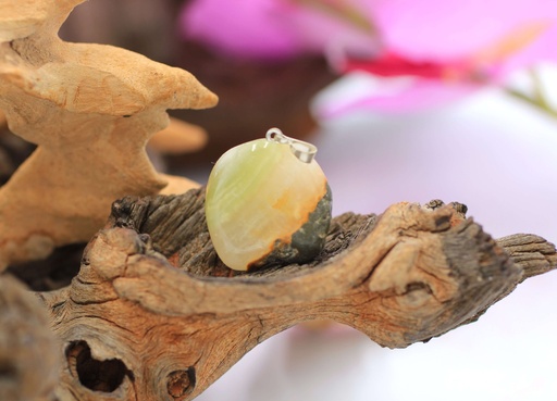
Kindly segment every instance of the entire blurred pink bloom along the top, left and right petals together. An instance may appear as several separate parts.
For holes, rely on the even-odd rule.
[[[339,75],[379,79],[379,90],[318,103],[325,118],[429,108],[502,85],[556,61],[556,23],[555,0],[195,0],[182,15],[185,36],[228,54],[322,53]]]

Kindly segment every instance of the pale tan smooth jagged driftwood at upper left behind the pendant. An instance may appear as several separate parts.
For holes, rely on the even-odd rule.
[[[203,109],[216,97],[189,73],[57,33],[83,0],[0,2],[0,109],[38,145],[0,189],[0,271],[88,241],[125,195],[194,186],[157,173],[147,140],[166,109]]]

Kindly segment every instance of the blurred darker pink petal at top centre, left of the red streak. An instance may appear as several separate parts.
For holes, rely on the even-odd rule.
[[[369,53],[376,48],[371,26],[367,30],[363,14],[356,26],[339,17],[346,10],[357,17],[358,9],[351,11],[347,4],[337,0],[193,0],[183,9],[180,33],[225,54],[256,60],[323,54],[341,45]]]

